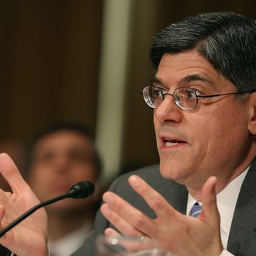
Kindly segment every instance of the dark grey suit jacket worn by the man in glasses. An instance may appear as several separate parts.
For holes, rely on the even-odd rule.
[[[122,196],[137,209],[140,209],[148,216],[154,216],[152,210],[143,199],[137,195],[127,182],[127,178],[136,173],[170,202],[179,212],[185,213],[187,206],[188,192],[184,185],[163,178],[157,165],[142,168],[126,175],[122,175],[112,183],[109,190]],[[230,195],[232,196],[232,195]],[[102,216],[100,211],[95,219],[95,230],[85,240],[81,248],[72,256],[95,256],[95,237],[102,234],[106,227],[112,225]],[[185,246],[185,245],[184,245]],[[227,250],[237,256],[256,255],[256,161],[251,164],[250,170],[244,179],[237,199],[237,206],[230,228],[230,236]]]

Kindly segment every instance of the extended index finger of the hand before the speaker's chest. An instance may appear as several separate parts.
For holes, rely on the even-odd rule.
[[[175,209],[162,197],[150,187],[142,178],[137,175],[132,175],[129,178],[129,183],[132,188],[147,202],[148,206],[154,210],[157,217],[170,218],[177,215]]]

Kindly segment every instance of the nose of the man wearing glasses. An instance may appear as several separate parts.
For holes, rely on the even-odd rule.
[[[175,104],[171,94],[166,94],[161,105],[154,109],[154,117],[161,123],[165,121],[180,123],[182,121],[182,109]]]

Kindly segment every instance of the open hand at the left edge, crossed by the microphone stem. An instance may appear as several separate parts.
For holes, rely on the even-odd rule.
[[[9,183],[11,192],[0,189],[0,227],[3,228],[27,209],[39,203],[33,191],[7,154],[0,154],[0,173]],[[19,256],[47,255],[47,213],[40,209],[9,230],[0,243]]]

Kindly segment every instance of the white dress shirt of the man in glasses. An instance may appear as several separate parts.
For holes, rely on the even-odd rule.
[[[237,204],[237,198],[240,192],[240,188],[244,182],[244,178],[247,175],[247,171],[249,167],[243,171],[237,178],[235,178],[232,182],[230,182],[219,194],[217,194],[217,206],[220,213],[220,237],[223,244],[223,247],[227,248],[227,240],[230,234],[231,222],[234,216],[234,210]],[[232,196],[230,196],[232,195]],[[188,196],[187,203],[187,215],[189,215],[189,211],[197,202],[192,195]],[[227,250],[223,250],[220,256],[228,256],[233,255],[230,254]]]

